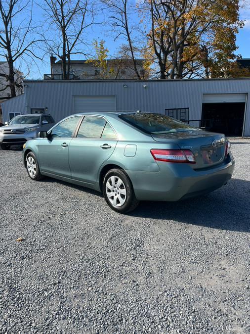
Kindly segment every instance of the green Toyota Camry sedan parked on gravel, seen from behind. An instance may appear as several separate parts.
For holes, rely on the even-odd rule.
[[[234,170],[224,135],[159,113],[75,114],[39,136],[23,150],[31,179],[49,176],[101,191],[122,213],[140,200],[208,193],[225,185]]]

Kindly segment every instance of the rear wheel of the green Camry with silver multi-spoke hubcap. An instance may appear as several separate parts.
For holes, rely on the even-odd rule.
[[[107,204],[120,213],[134,210],[139,201],[136,199],[133,186],[124,170],[109,170],[104,179],[102,191]]]

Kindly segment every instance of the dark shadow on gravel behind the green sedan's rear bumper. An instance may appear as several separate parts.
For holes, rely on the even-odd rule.
[[[179,202],[141,202],[129,215],[250,232],[250,181],[231,179],[208,195]]]

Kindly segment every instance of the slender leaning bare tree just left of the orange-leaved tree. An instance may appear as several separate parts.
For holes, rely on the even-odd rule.
[[[129,25],[128,22],[128,4],[127,0],[102,0],[104,4],[108,6],[108,9],[111,11],[111,25],[114,28],[114,31],[116,33],[115,40],[119,38],[120,36],[125,37],[127,40],[131,59],[133,62],[133,69],[136,74],[137,79],[141,79],[141,76],[137,69],[137,64],[135,60],[135,51],[136,48],[134,47],[131,33],[132,33],[132,27]]]

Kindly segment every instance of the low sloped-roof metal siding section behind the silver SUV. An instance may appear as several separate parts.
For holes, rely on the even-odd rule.
[[[9,120],[10,112],[21,112],[22,114],[27,113],[26,107],[26,95],[18,95],[2,102],[2,118],[6,122]]]

